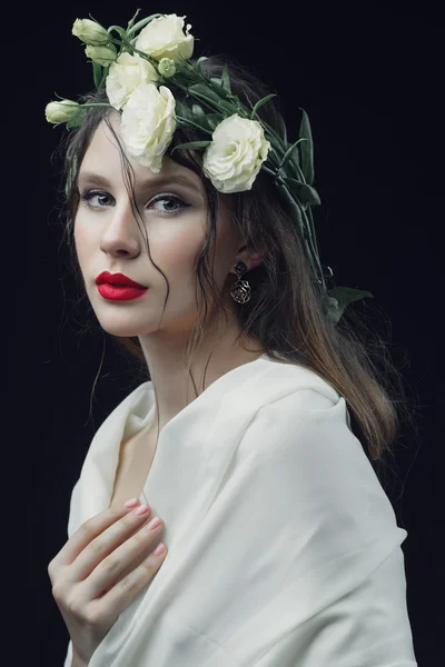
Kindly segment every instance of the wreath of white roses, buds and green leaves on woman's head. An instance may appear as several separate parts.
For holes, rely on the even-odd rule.
[[[159,172],[175,130],[182,126],[207,139],[181,143],[174,151],[204,150],[202,172],[219,192],[250,190],[260,169],[268,173],[299,227],[329,318],[336,325],[350,302],[373,295],[347,287],[326,287],[310,210],[320,199],[313,187],[313,139],[306,111],[301,109],[298,141],[289,145],[281,116],[277,132],[257,115],[275,93],[254,107],[245,106],[231,92],[227,64],[217,78],[202,70],[206,57],[190,62],[195,38],[189,32],[190,24],[185,29],[186,17],[152,14],[135,23],[139,11],[126,29],[111,26],[107,30],[90,19],[76,19],[72,27],[72,33],[87,44],[96,88],[106,89],[109,103],[103,106],[121,113],[120,131],[128,155]],[[185,92],[190,103],[176,100],[175,89]],[[61,99],[47,104],[46,118],[55,125],[65,122],[71,129],[83,122],[87,107],[91,106],[98,104]],[[332,269],[327,269],[332,278]]]

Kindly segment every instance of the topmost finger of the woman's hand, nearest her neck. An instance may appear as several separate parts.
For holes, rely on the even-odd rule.
[[[138,505],[140,505],[139,499]],[[71,565],[91,540],[134,510],[135,507],[127,508],[123,505],[122,507],[109,507],[105,511],[91,517],[91,519],[88,519],[88,521],[85,521],[51,560],[48,569],[51,568],[55,570],[58,567]]]

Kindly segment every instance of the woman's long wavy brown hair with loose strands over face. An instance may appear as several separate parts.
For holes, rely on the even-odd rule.
[[[241,101],[255,104],[270,92],[251,69],[239,66],[226,56],[209,56],[204,69],[209,76],[219,77],[226,62],[229,64],[233,92]],[[175,97],[184,100],[179,91],[175,90]],[[258,113],[279,131],[279,108],[276,100],[274,98],[268,101]],[[102,90],[85,96],[82,101],[100,102],[108,99]],[[59,146],[65,165],[63,235],[70,249],[70,265],[82,293],[81,298],[86,296],[73,241],[73,223],[79,205],[77,172],[102,120],[107,122],[120,147],[122,172],[134,215],[137,220],[141,217],[135,197],[135,175],[112,130],[110,112],[116,113],[110,108],[90,107],[83,123],[70,130]],[[330,322],[323,305],[319,285],[305,256],[298,226],[284,210],[268,175],[260,171],[249,191],[222,196],[204,177],[201,160],[196,152],[178,149],[170,155],[179,143],[201,138],[195,130],[178,128],[167,151],[172,160],[201,178],[207,198],[209,231],[196,269],[201,308],[188,341],[188,362],[215,312],[218,309],[224,311],[209,261],[215,242],[218,198],[221,197],[230,207],[233,223],[240,230],[247,247],[254,251],[267,249],[261,263],[243,277],[249,281],[251,299],[245,305],[236,306],[240,336],[257,339],[261,350],[277,361],[307,367],[336,388],[346,400],[353,432],[360,440],[365,454],[380,477],[383,465],[386,465],[385,455],[394,457],[393,448],[402,422],[406,420],[414,426],[404,380],[390,359],[387,342],[370,327],[365,326],[365,318],[353,308],[345,311],[336,326]],[[144,225],[141,231],[146,232]],[[147,236],[146,243],[151,259]],[[165,308],[169,295],[168,278],[155,266],[167,281]],[[112,338],[121,346],[122,354],[137,360],[140,377],[147,379],[147,364],[138,337]],[[190,367],[188,369],[190,374]]]

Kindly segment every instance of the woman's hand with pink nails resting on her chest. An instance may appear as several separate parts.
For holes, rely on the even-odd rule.
[[[119,614],[150,581],[167,555],[154,554],[162,531],[148,529],[139,504],[109,508],[86,521],[48,566],[52,595],[72,648],[86,665]]]

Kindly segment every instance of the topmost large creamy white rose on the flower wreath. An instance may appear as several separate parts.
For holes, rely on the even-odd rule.
[[[187,24],[186,34],[184,33],[185,18],[169,14],[152,19],[139,32],[135,47],[157,60],[161,58],[170,58],[175,61],[181,58],[188,60],[194,52],[195,38],[188,33],[190,24]]]

